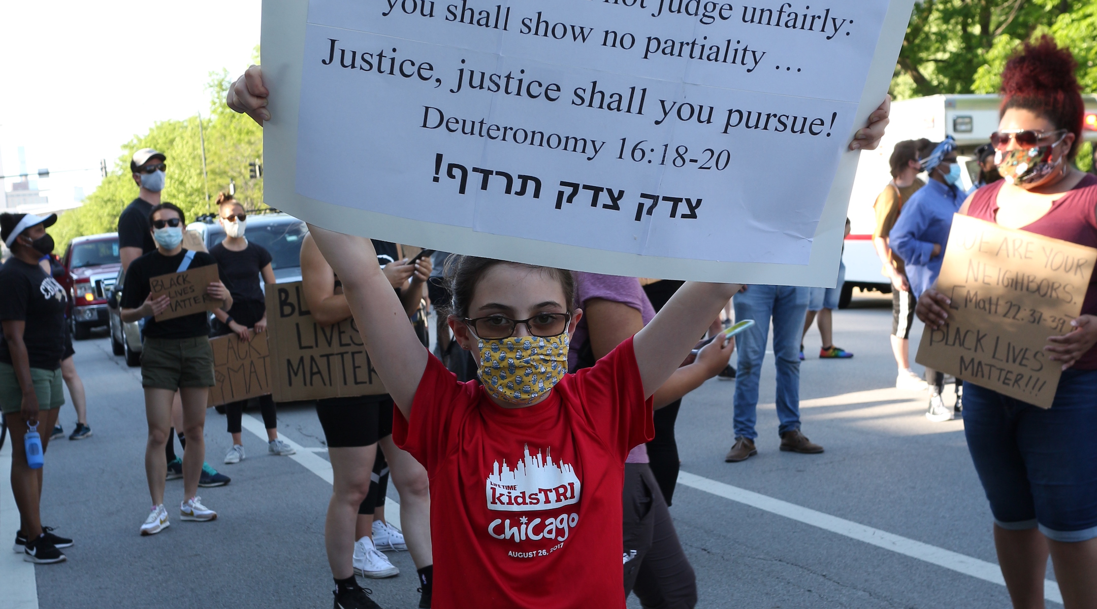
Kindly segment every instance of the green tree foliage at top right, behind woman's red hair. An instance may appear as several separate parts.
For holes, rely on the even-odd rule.
[[[914,7],[892,79],[896,99],[993,93],[1021,41],[1050,33],[1097,91],[1097,0],[924,0]]]

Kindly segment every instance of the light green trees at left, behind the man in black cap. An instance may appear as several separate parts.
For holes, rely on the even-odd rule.
[[[155,148],[167,156],[162,200],[181,207],[188,220],[215,211],[213,207],[217,193],[227,191],[230,180],[236,184],[237,200],[249,209],[263,207],[262,177],[251,180],[248,166],[248,163],[262,159],[262,128],[247,115],[225,106],[225,93],[230,84],[227,70],[211,72],[210,77],[208,114],[201,118],[194,115],[183,120],[157,123],[147,134],[134,136],[123,143],[122,156],[99,187],[81,207],[61,215],[50,229],[59,248],[73,237],[117,229],[118,215],[137,196],[129,159],[142,148]],[[202,173],[203,136],[207,176]]]

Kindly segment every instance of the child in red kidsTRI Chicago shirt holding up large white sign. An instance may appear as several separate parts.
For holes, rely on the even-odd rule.
[[[261,123],[267,93],[253,66],[227,103]],[[889,104],[850,149],[879,145]],[[652,395],[740,286],[686,284],[635,337],[569,375],[583,315],[572,274],[462,257],[449,324],[480,379],[462,383],[397,323],[406,312],[369,239],[317,227],[310,235],[397,406],[393,438],[430,475],[431,531],[446,549],[434,607],[624,607],[625,458],[654,435]]]

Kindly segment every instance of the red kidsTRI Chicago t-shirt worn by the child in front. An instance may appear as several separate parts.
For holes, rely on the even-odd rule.
[[[652,412],[632,338],[521,409],[430,356],[393,439],[430,475],[433,607],[623,608],[624,459]]]

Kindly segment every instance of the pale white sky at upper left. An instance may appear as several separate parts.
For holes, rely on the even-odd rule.
[[[99,161],[154,123],[208,113],[211,71],[234,78],[259,44],[261,0],[0,2],[0,175],[32,177],[50,204],[91,194]],[[65,171],[84,170],[92,171]],[[11,191],[12,180],[4,181]]]

